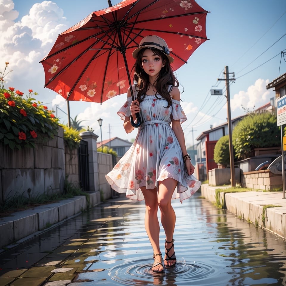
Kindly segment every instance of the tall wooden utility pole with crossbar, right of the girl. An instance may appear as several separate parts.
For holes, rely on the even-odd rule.
[[[231,186],[235,186],[235,173],[234,173],[234,158],[233,158],[233,146],[232,146],[232,123],[231,123],[231,109],[230,109],[230,95],[229,95],[229,81],[234,81],[235,78],[229,79],[229,74],[234,77],[234,72],[229,72],[229,67],[225,66],[224,69],[225,78],[217,80],[226,81],[226,102],[227,102],[227,123],[229,129],[229,158],[230,158],[230,175],[231,175]]]

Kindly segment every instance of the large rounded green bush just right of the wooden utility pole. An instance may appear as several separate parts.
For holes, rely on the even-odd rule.
[[[245,116],[233,129],[232,143],[238,159],[254,156],[254,148],[281,146],[276,116],[269,112]]]

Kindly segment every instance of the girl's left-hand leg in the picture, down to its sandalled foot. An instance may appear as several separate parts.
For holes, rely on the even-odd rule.
[[[141,187],[142,193],[145,199],[145,229],[152,245],[154,254],[160,253],[159,235],[160,226],[158,221],[158,200],[157,200],[157,189],[146,189]],[[161,263],[161,256],[155,257],[154,265],[158,262]],[[153,266],[152,270],[162,271],[164,268],[162,265]]]

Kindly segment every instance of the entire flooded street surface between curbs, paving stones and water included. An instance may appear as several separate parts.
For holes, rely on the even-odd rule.
[[[286,285],[286,241],[199,195],[172,201],[178,262],[164,274],[150,272],[144,202],[121,196],[1,253],[0,286]]]

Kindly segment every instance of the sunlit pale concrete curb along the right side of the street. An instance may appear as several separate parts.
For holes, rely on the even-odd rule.
[[[212,203],[219,202],[234,215],[267,229],[286,240],[286,199],[283,192],[219,192],[229,186],[201,186],[201,195]],[[266,207],[266,206],[271,207]],[[276,206],[276,207],[272,207]]]

